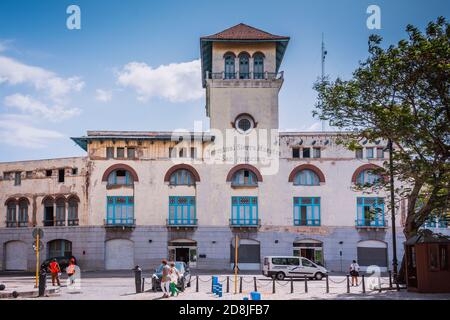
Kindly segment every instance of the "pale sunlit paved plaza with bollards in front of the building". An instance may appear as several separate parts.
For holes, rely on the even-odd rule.
[[[79,290],[69,289],[65,286],[65,277],[62,277],[61,288],[51,286],[48,280],[47,289],[56,289],[55,293],[49,293],[46,297],[37,298],[37,289],[34,288],[35,279],[31,274],[0,274],[0,283],[5,284],[6,289],[3,293],[17,291],[19,297],[16,299],[43,299],[43,300],[158,300],[161,299],[160,291],[151,290],[150,272],[144,272],[147,277],[144,293],[136,294],[134,275],[132,271],[121,272],[86,272],[81,279],[81,288]],[[227,276],[230,278],[230,293],[226,291]],[[219,275],[219,282],[223,284],[223,296],[221,298],[211,293],[211,274],[199,275],[198,292],[196,292],[196,275],[192,277],[191,287],[177,297],[171,297],[170,300],[242,300],[249,297],[251,291],[254,291],[254,279],[256,278],[258,292],[261,293],[262,300],[349,300],[349,299],[427,299],[441,300],[450,299],[450,294],[419,294],[401,290],[389,290],[379,292],[370,290],[370,280],[366,281],[366,293],[362,292],[361,284],[350,287],[350,293],[347,293],[347,284],[345,275],[330,275],[329,293],[326,293],[326,281],[308,281],[305,292],[305,283],[303,280],[294,280],[291,293],[291,282],[289,280],[276,282],[276,293],[273,291],[273,282],[260,274],[242,275],[242,293],[239,293],[239,281],[237,290],[234,294],[233,275]],[[377,279],[378,281],[378,279]],[[382,287],[388,287],[388,277],[380,279]],[[31,291],[34,291],[30,293]],[[21,294],[28,292],[28,294]],[[9,298],[12,299],[12,298]]]

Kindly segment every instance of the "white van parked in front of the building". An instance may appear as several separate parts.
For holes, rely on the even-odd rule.
[[[263,275],[283,280],[285,277],[305,277],[321,280],[327,269],[303,257],[264,257]]]

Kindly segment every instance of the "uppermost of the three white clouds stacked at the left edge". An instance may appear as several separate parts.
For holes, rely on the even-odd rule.
[[[66,95],[84,87],[84,82],[79,77],[61,78],[52,71],[6,56],[0,56],[1,83],[31,85],[36,90],[44,90],[52,100],[64,100]]]

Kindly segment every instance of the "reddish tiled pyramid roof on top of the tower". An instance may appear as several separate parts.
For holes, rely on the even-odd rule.
[[[209,40],[289,40],[289,37],[277,36],[240,23],[222,32],[202,37]]]

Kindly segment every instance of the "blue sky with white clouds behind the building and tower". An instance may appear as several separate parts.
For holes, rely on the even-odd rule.
[[[81,8],[81,30],[66,27],[71,4]],[[366,27],[371,4],[381,30]],[[423,28],[449,12],[445,0],[2,0],[0,161],[83,155],[69,137],[86,130],[191,129],[198,120],[207,129],[199,37],[240,22],[291,37],[280,128],[318,130],[312,85],[322,32],[326,73],[348,78],[370,34],[392,44],[408,23]]]

